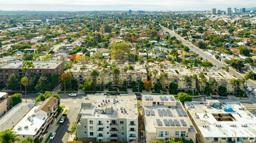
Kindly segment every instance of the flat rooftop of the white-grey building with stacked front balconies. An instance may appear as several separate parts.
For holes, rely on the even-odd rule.
[[[83,99],[78,111],[81,118],[137,118],[137,99],[135,95],[87,95]],[[90,105],[90,106],[89,106]],[[111,113],[106,114],[106,108],[111,108]]]

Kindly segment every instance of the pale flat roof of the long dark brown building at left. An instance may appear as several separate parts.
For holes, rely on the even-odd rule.
[[[23,61],[10,61],[0,66],[0,69],[21,69]],[[33,69],[55,69],[62,62],[55,61],[31,61],[35,67]]]

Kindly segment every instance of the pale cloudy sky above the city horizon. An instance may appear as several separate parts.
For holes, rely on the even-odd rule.
[[[256,7],[256,0],[0,0],[1,10],[90,11],[202,11],[211,8]]]

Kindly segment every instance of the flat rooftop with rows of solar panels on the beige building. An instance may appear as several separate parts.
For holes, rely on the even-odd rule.
[[[189,133],[197,133],[182,103],[176,101],[173,95],[143,95],[142,100],[147,132],[156,132],[156,128],[186,128]],[[152,106],[147,104],[150,101],[153,102]]]

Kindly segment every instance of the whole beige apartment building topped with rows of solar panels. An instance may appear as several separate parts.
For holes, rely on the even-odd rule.
[[[142,100],[146,143],[181,137],[196,142],[197,131],[173,95],[143,95]]]

